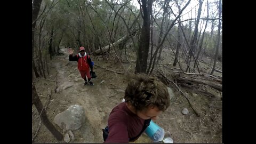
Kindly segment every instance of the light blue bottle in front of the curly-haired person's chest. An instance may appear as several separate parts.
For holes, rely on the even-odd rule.
[[[162,127],[158,126],[152,120],[150,121],[145,133],[154,142],[162,141],[164,139],[164,129],[162,129]]]

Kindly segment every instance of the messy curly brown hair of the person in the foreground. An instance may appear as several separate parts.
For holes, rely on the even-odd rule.
[[[165,111],[170,106],[170,95],[165,86],[157,78],[136,74],[128,83],[124,99],[130,102],[136,110],[143,110],[150,105]]]

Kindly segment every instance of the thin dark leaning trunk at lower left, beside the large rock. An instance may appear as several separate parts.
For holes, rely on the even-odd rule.
[[[54,137],[57,138],[57,140],[61,141],[63,139],[63,135],[54,127],[54,125],[47,118],[45,108],[37,95],[36,88],[33,83],[32,83],[32,103],[34,103],[43,124],[54,135]]]

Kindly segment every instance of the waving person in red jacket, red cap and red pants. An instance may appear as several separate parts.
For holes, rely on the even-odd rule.
[[[81,74],[81,77],[84,79],[85,83],[84,85],[87,85],[88,83],[90,85],[94,85],[91,81],[91,75],[90,75],[90,69],[93,71],[93,66],[91,64],[92,60],[89,55],[86,54],[85,49],[83,46],[79,47],[79,53],[77,55],[73,56],[73,49],[68,49],[69,51],[69,61],[77,61],[77,68]],[[86,76],[88,78],[88,82],[86,79]]]

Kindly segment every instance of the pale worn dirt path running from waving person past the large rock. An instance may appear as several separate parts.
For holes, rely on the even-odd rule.
[[[53,94],[54,100],[47,108],[47,113],[51,113],[50,111],[59,113],[75,104],[84,107],[86,121],[81,129],[73,132],[75,140],[71,142],[102,142],[101,129],[106,126],[111,109],[121,102],[125,84],[111,78],[113,75],[108,75],[105,69],[94,67],[98,76],[92,79],[94,86],[84,86],[84,80],[77,70],[77,62],[68,61],[67,49],[61,49],[61,52],[65,55],[57,56],[52,60],[52,69],[55,69],[55,73],[58,72],[56,77],[58,92]],[[49,115],[50,119],[54,116]],[[54,139],[50,141],[56,142]]]

